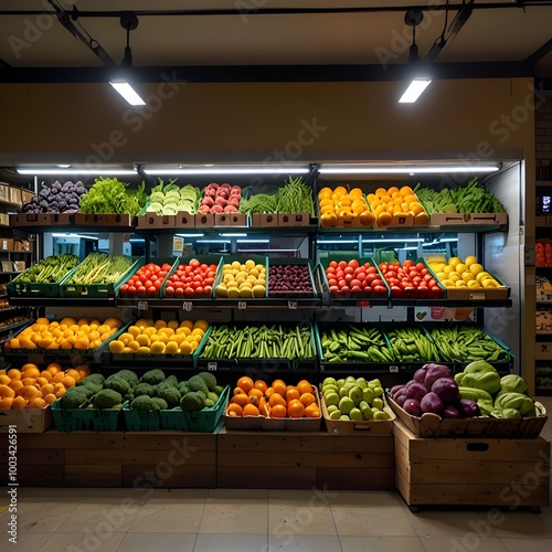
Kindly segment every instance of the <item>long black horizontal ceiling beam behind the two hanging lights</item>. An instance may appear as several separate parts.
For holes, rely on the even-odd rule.
[[[269,82],[384,82],[408,76],[407,64],[389,65],[201,65],[131,67],[132,82],[269,83]],[[526,62],[435,63],[432,77],[510,78],[534,76]],[[113,67],[6,67],[6,83],[107,83]]]

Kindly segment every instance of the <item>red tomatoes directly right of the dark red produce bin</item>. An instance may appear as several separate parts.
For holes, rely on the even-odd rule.
[[[336,297],[388,295],[378,268],[370,263],[360,264],[355,258],[331,261],[326,268],[326,278],[330,294]]]

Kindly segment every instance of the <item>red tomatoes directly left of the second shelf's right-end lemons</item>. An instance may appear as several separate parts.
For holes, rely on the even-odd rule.
[[[390,289],[391,297],[406,299],[442,299],[445,290],[437,284],[432,273],[424,263],[399,261],[380,263],[379,268],[383,274]]]

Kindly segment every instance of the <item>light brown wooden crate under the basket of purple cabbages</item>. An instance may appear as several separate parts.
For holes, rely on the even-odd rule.
[[[408,506],[549,505],[550,443],[422,438],[395,421],[396,488]]]

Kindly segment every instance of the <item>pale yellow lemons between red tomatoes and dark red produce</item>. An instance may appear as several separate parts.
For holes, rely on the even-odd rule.
[[[266,266],[252,258],[234,261],[222,267],[221,282],[214,288],[216,297],[247,298],[266,296]]]

